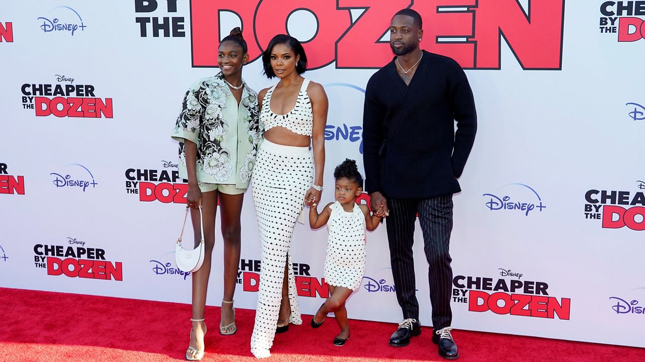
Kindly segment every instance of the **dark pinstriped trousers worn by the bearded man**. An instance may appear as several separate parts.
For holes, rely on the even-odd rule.
[[[452,268],[450,267],[450,232],[452,231],[452,195],[428,199],[388,198],[390,216],[386,219],[390,262],[403,318],[419,320],[419,302],[415,293],[416,283],[412,245],[414,224],[419,213],[423,232],[424,252],[428,260],[432,325],[435,330],[452,323],[450,309]]]

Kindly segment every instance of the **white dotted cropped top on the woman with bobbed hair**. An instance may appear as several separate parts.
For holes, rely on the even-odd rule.
[[[303,85],[300,87],[298,98],[295,100],[293,110],[284,115],[278,115],[271,110],[271,95],[275,86],[266,91],[262,101],[262,111],[260,112],[260,126],[264,131],[268,131],[273,127],[284,127],[293,133],[312,137],[313,133],[313,113],[312,102],[309,100],[307,94],[307,86],[309,80],[305,79]]]

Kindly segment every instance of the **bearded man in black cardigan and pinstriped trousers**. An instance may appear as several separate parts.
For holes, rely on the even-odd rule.
[[[365,189],[386,225],[397,300],[403,318],[390,345],[421,333],[412,255],[417,213],[430,267],[432,341],[439,354],[459,357],[450,327],[452,194],[475,140],[477,115],[466,74],[453,59],[422,51],[419,13],[392,18],[390,46],[397,55],[367,84],[363,114]],[[455,132],[454,122],[457,121]]]

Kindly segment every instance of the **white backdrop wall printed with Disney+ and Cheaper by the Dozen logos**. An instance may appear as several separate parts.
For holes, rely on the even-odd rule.
[[[330,185],[344,158],[362,167],[364,88],[408,6],[422,48],[466,69],[479,115],[454,197],[453,327],[645,347],[645,1],[3,1],[0,286],[189,303],[170,133],[188,86],[218,71],[220,37],[243,26],[255,90],[274,82],[258,60],[273,35],[305,43],[305,75],[330,99]],[[293,235],[305,313],[328,295],[326,237],[303,224]],[[222,297],[217,240],[208,305]],[[384,226],[367,256],[350,318],[400,321]],[[237,307],[255,308],[259,268],[248,192]]]

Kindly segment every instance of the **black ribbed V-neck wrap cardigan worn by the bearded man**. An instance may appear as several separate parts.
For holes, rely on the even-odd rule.
[[[457,193],[477,131],[466,73],[453,59],[424,50],[407,86],[394,59],[372,75],[365,91],[365,190],[392,198]]]

